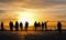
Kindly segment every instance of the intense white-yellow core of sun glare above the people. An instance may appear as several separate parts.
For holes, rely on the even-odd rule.
[[[30,10],[25,10],[25,11],[21,11],[19,12],[19,22],[23,22],[23,24],[25,23],[25,21],[28,21],[30,23],[30,26],[33,24],[34,22],[34,12],[30,11]]]

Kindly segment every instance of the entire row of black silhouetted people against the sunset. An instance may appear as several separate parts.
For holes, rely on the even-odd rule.
[[[42,23],[37,23],[36,21],[34,22],[34,28],[35,28],[35,31],[36,31],[36,29],[37,29],[37,27],[42,27],[42,31],[43,30],[47,30],[47,22],[48,21],[45,21],[45,22],[42,22]],[[19,31],[19,27],[20,27],[20,29],[21,29],[21,31],[23,30],[23,23],[22,22],[18,22],[18,21],[15,21],[15,24],[13,24],[13,22],[12,21],[10,21],[10,23],[9,23],[9,27],[10,27],[10,31],[13,31],[13,28],[15,28],[15,31]],[[25,31],[28,30],[28,28],[29,28],[29,22],[28,21],[25,21],[25,26],[24,26],[24,29],[25,29]],[[1,22],[1,30],[3,30],[4,28],[3,28],[3,22]],[[62,32],[62,22],[57,22],[57,30],[59,31],[59,32]]]

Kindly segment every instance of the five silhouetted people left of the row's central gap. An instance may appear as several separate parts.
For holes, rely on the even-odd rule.
[[[1,22],[1,26],[0,26],[0,28],[1,28],[1,30],[4,30],[4,28],[3,28],[3,22]],[[10,28],[10,31],[13,31],[13,28],[15,28],[15,31],[19,31],[19,28],[21,29],[21,31],[23,30],[23,23],[22,22],[18,22],[18,21],[15,21],[15,24],[13,24],[13,22],[12,21],[10,21],[10,23],[9,23],[9,28]],[[28,30],[28,28],[29,28],[29,22],[26,21],[25,22],[25,31]]]

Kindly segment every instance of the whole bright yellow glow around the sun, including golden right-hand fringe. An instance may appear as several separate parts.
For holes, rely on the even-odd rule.
[[[23,22],[25,23],[25,21],[28,21],[30,23],[30,26],[33,26],[35,21],[44,21],[47,18],[45,17],[46,14],[40,14],[41,11],[35,10],[35,9],[25,9],[23,11],[19,11],[19,22]]]

